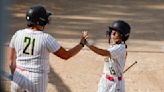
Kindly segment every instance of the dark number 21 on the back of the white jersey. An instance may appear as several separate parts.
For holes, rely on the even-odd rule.
[[[23,53],[28,55],[34,55],[34,46],[35,46],[35,39],[31,37],[24,38],[24,49]]]

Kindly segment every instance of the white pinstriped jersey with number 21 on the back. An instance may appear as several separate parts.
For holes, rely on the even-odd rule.
[[[49,72],[49,53],[57,51],[60,45],[51,35],[27,28],[13,35],[10,47],[16,50],[17,67],[33,72]]]

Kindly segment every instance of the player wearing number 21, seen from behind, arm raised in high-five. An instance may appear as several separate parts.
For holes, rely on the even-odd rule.
[[[32,6],[26,13],[27,28],[18,30],[10,42],[10,69],[13,74],[11,92],[46,92],[49,72],[49,53],[69,59],[84,47],[80,43],[66,51],[44,27],[50,12],[41,5]]]

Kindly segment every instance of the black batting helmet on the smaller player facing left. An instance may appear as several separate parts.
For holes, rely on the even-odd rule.
[[[117,20],[109,26],[108,34],[111,35],[112,30],[118,31],[121,34],[122,41],[126,41],[130,35],[130,25],[123,20]]]

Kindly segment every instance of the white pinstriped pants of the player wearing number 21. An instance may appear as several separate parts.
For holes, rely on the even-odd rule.
[[[34,73],[16,69],[11,82],[11,92],[46,92],[47,85],[47,73]]]

